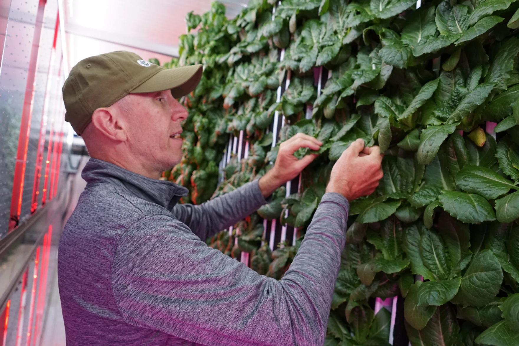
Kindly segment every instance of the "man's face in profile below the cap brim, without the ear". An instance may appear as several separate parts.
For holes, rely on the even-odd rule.
[[[136,159],[150,169],[163,171],[182,159],[181,121],[187,110],[170,90],[129,94],[123,104],[127,145]]]

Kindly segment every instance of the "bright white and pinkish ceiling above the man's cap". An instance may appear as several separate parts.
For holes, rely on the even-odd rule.
[[[103,52],[130,50],[162,63],[178,53],[187,12],[202,14],[212,0],[64,0],[69,66]],[[234,17],[248,0],[227,0]]]

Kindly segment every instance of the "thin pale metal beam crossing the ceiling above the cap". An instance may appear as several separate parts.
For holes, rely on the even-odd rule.
[[[67,23],[65,32],[73,35],[84,36],[88,38],[98,39],[105,42],[115,43],[117,45],[132,47],[154,53],[164,54],[170,57],[179,56],[179,47],[163,45],[156,42],[135,39],[127,36],[117,35],[114,33],[92,29],[91,27],[75,25]]]

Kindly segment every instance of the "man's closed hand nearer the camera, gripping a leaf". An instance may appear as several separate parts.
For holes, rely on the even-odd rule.
[[[382,157],[378,146],[364,147],[362,139],[351,143],[335,162],[326,192],[340,193],[348,201],[371,195],[384,176]]]

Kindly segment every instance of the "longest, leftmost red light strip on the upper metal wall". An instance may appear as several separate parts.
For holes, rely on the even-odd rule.
[[[34,84],[36,80],[36,67],[38,66],[39,41],[42,34],[45,3],[45,0],[39,1],[38,12],[36,15],[36,23],[34,27],[33,45],[31,49],[31,58],[29,60],[29,71],[27,75],[27,84],[25,87],[25,96],[23,99],[20,135],[18,137],[15,177],[13,179],[12,185],[9,231],[18,226],[22,208],[25,163],[27,161],[27,150],[29,148],[29,132],[31,131],[31,117],[34,103]]]

